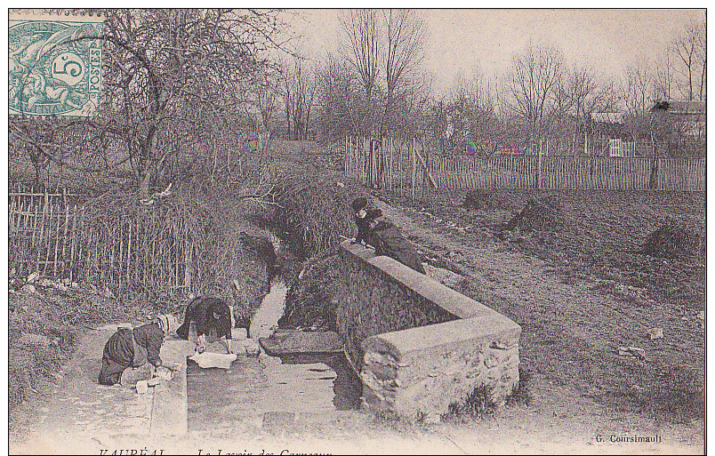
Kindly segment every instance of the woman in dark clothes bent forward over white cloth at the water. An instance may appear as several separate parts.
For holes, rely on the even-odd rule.
[[[186,306],[184,323],[176,330],[181,339],[189,340],[191,323],[195,324],[197,332],[197,352],[204,353],[207,342],[221,340],[228,353],[231,348],[231,311],[223,300],[211,296],[198,296],[189,301]],[[208,340],[207,340],[208,339]]]

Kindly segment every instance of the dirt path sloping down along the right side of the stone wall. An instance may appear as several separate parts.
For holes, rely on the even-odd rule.
[[[520,356],[531,376],[535,410],[547,415],[573,417],[625,416],[652,388],[659,371],[680,364],[704,367],[703,348],[685,347],[677,332],[649,340],[647,330],[668,328],[671,310],[658,306],[626,306],[594,288],[599,284],[565,281],[558,270],[542,260],[506,251],[499,243],[478,243],[457,229],[436,229],[414,210],[403,210],[374,198],[374,205],[393,220],[424,250],[451,252],[456,269],[466,279],[459,291],[481,300],[522,326]],[[438,231],[441,232],[438,233]],[[425,248],[426,247],[426,248]],[[619,347],[644,348],[647,362],[617,355]],[[704,372],[704,369],[701,371]],[[655,391],[650,390],[650,394]],[[646,423],[646,418],[636,420]],[[595,423],[594,423],[595,424]],[[691,422],[703,437],[703,421]],[[576,428],[573,429],[574,432]],[[567,431],[566,431],[567,432]]]

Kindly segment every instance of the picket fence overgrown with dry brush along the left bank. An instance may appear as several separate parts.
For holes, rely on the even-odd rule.
[[[11,204],[10,265],[19,276],[39,271],[149,299],[225,295],[238,279],[244,301],[266,281],[265,265],[234,236],[250,223],[211,196],[177,192],[143,205],[138,193],[113,188],[77,206],[50,195]]]

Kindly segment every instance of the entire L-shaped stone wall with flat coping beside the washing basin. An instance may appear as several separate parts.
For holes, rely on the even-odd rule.
[[[503,404],[518,386],[518,324],[373,249],[340,252],[337,326],[363,408],[434,417],[475,388]]]

